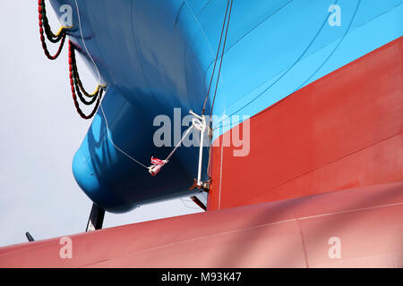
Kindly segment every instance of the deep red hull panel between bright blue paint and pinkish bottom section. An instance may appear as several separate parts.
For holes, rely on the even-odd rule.
[[[403,180],[402,55],[400,37],[256,114],[248,156],[213,147],[208,210]]]

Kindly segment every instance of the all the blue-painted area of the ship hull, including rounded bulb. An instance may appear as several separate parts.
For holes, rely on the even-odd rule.
[[[153,144],[157,130],[153,119],[167,114],[174,122],[175,107],[182,114],[189,109],[201,112],[226,2],[51,3],[56,11],[62,4],[73,7],[70,38],[81,47],[95,76],[99,71],[109,87],[102,106],[116,145],[143,164],[149,163],[150,156],[167,155],[171,147]],[[341,26],[328,24],[331,4],[341,8]],[[213,114],[257,114],[399,38],[401,4],[401,0],[234,1]],[[211,97],[207,113],[210,105]],[[214,138],[228,128],[216,128]],[[174,135],[173,146],[180,132]],[[197,173],[197,159],[197,148],[181,148],[159,176],[150,177],[109,142],[99,112],[74,157],[73,172],[96,204],[110,212],[124,212],[144,203],[192,196],[188,187]]]

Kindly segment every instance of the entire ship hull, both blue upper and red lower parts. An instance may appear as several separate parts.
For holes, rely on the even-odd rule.
[[[197,147],[155,177],[135,161],[185,129],[157,147],[157,116],[201,114],[227,2],[51,3],[74,8],[69,37],[107,84],[73,160],[81,189],[109,212],[199,196]],[[401,0],[234,1],[206,105],[208,211],[0,248],[0,266],[403,267],[402,14]]]

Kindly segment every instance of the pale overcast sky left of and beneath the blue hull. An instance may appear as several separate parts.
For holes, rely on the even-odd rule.
[[[47,60],[38,1],[1,1],[0,13],[0,246],[27,241],[25,231],[35,240],[84,231],[92,203],[74,181],[72,160],[90,121],[73,105],[67,45],[56,61]],[[59,23],[53,10],[48,13],[56,32]],[[84,85],[95,87],[80,58],[78,65]],[[200,211],[188,199],[176,199],[107,213],[104,227]]]

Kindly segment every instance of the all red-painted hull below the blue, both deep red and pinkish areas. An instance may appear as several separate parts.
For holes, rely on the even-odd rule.
[[[209,212],[72,235],[71,259],[60,239],[0,248],[0,267],[403,267],[402,55],[253,116],[249,156],[213,147]]]

